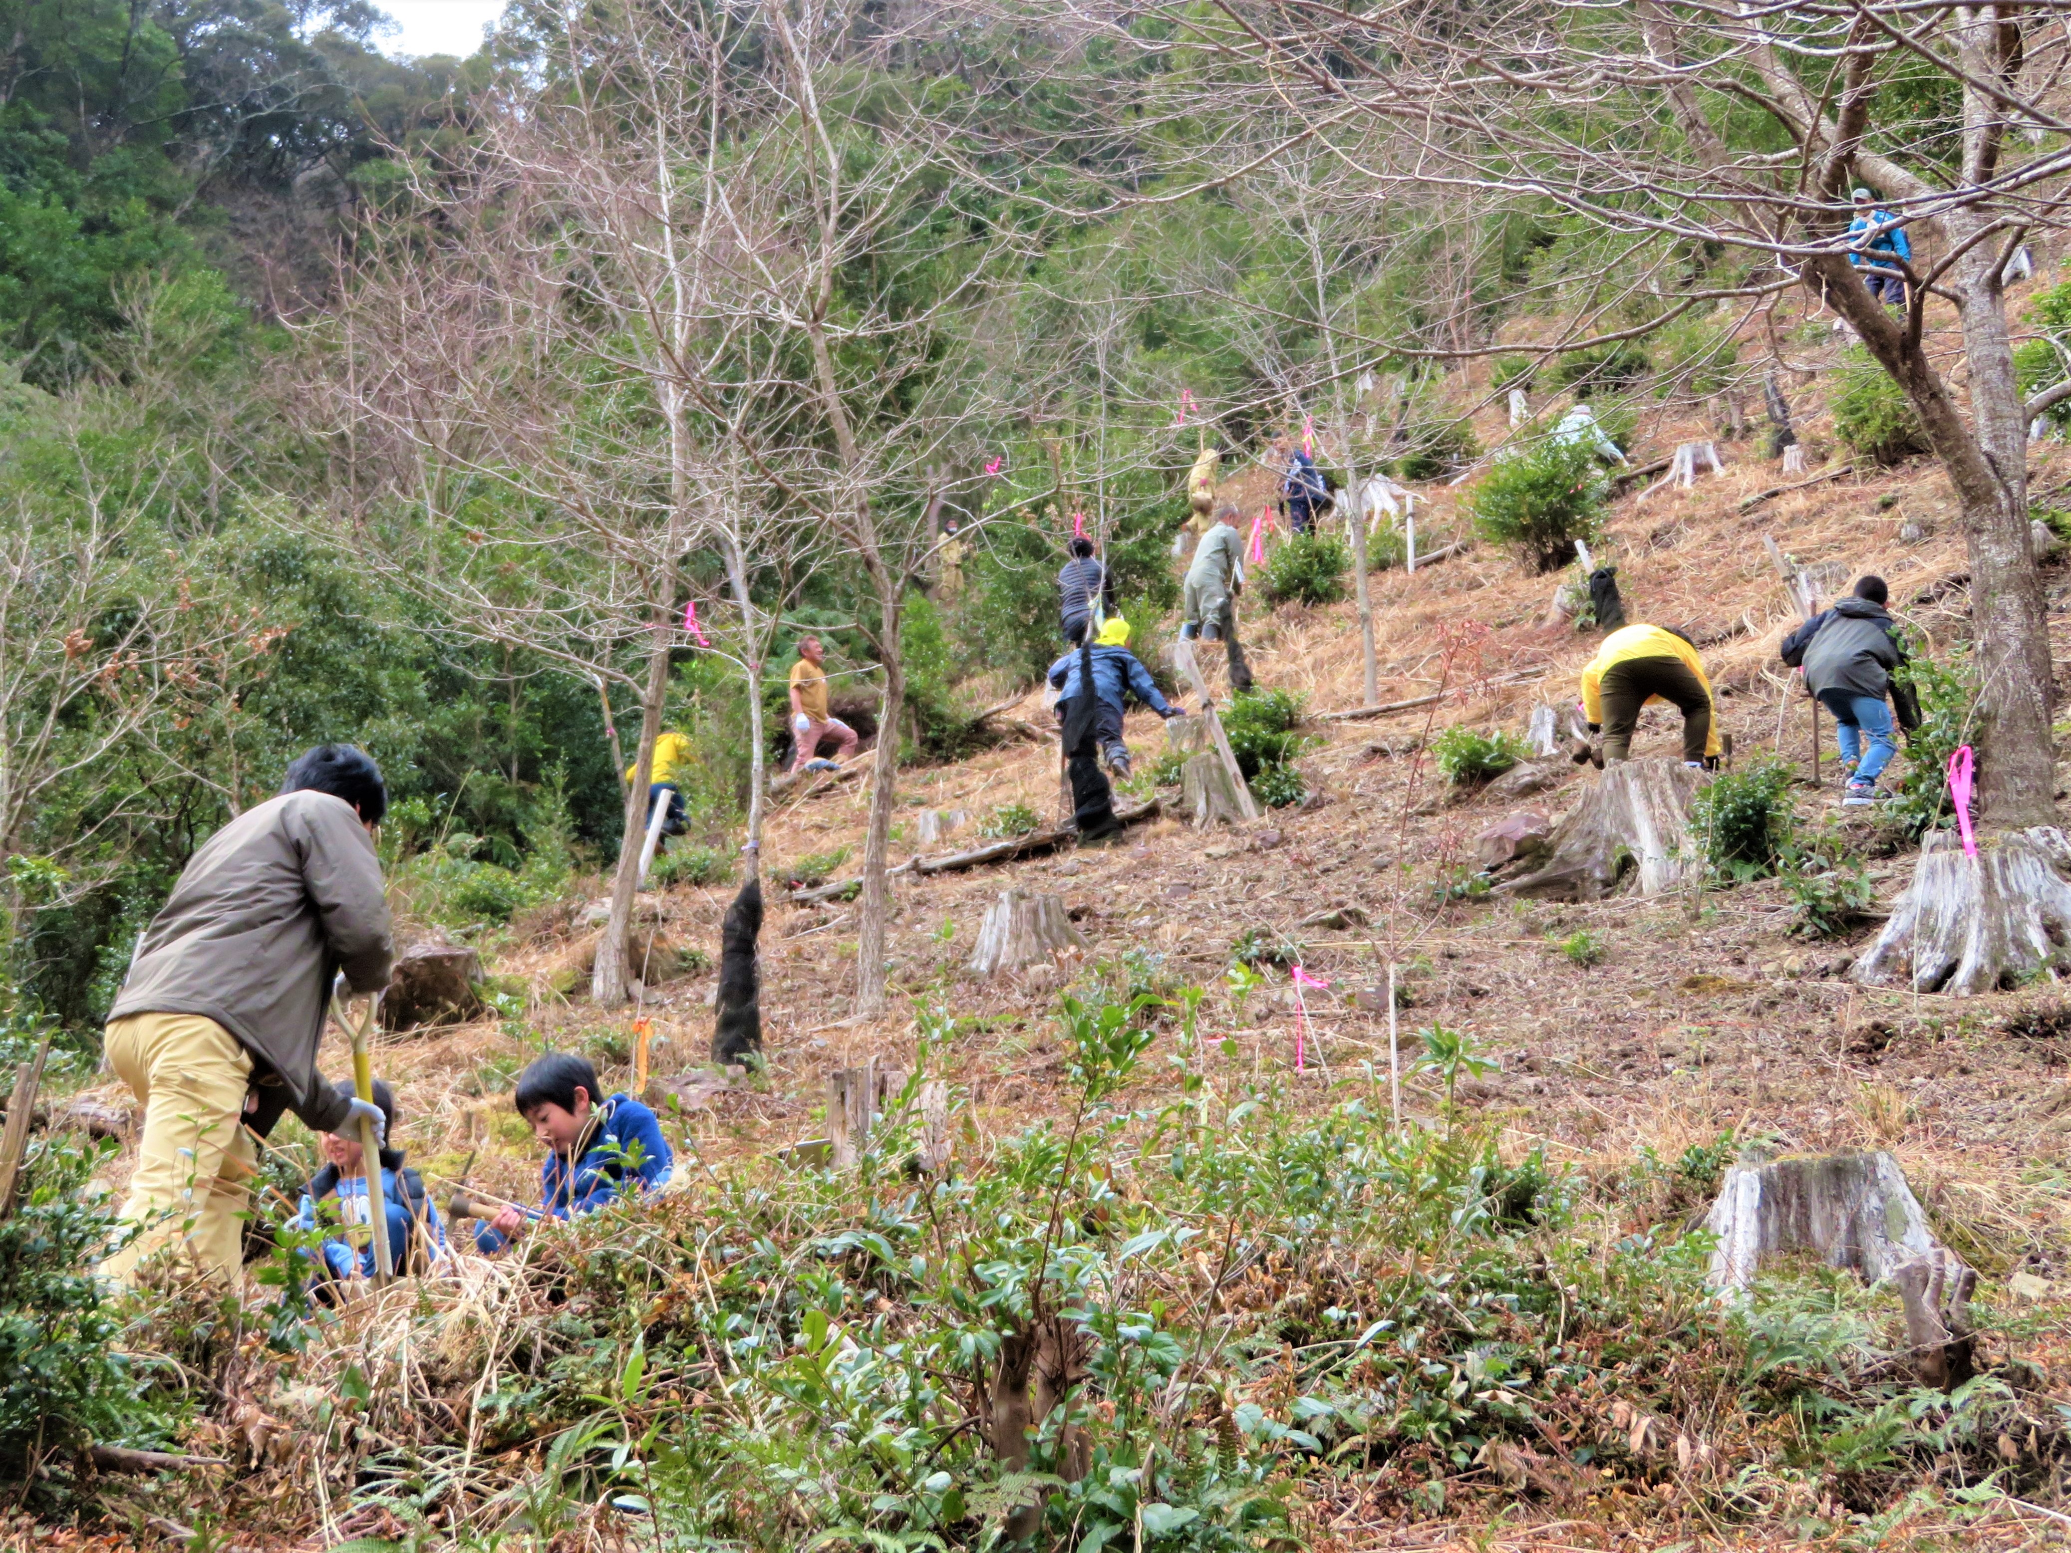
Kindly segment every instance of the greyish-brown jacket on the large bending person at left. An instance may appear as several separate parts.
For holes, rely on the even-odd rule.
[[[296,1116],[327,1133],[346,1116],[317,1075],[331,977],[344,971],[354,992],[377,992],[391,953],[381,863],[360,816],[329,793],[282,793],[188,859],[108,1017],[213,1019],[259,1060],[253,1083],[278,1077]],[[259,1112],[263,1133],[280,1106]]]

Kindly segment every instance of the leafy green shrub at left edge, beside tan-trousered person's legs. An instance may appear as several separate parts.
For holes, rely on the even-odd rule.
[[[0,1220],[0,1478],[8,1483],[37,1483],[37,1462],[64,1462],[89,1443],[157,1445],[166,1433],[93,1276],[118,1226],[87,1182],[118,1151],[46,1137],[29,1151],[14,1213]]]

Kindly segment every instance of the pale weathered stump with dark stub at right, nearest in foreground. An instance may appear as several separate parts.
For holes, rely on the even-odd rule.
[[[1970,1379],[1978,1273],[1934,1238],[1889,1153],[1733,1166],[1704,1228],[1719,1238],[1707,1271],[1713,1288],[1740,1294],[1764,1257],[1812,1251],[1864,1284],[1891,1282],[1922,1385],[1949,1389]]]

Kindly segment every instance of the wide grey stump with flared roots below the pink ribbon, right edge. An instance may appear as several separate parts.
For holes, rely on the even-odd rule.
[[[1986,837],[1976,857],[1953,830],[1928,832],[1914,882],[1849,977],[1967,998],[2071,967],[2067,863],[2071,843],[2054,826]]]

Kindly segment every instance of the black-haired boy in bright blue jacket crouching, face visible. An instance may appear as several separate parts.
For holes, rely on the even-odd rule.
[[[474,1247],[501,1251],[528,1222],[592,1213],[628,1191],[669,1180],[675,1155],[661,1122],[632,1095],[596,1097],[596,1068],[574,1052],[551,1052],[518,1075],[518,1114],[547,1147],[541,1207],[503,1207],[474,1226]]]

